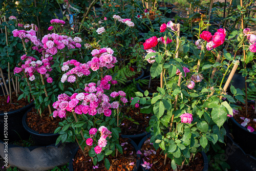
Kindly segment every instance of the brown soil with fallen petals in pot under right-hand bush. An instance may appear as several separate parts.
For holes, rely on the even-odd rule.
[[[152,150],[152,152],[156,152],[156,154],[151,154],[149,156],[144,157],[144,151]],[[166,165],[164,166],[164,154],[161,153],[161,149],[158,148],[157,151],[155,151],[155,148],[153,147],[153,144],[150,143],[150,138],[148,138],[144,144],[141,147],[141,158],[149,162],[150,164],[153,163],[152,168],[150,170],[162,170],[162,171],[170,171],[173,170],[171,166],[171,160],[167,158]],[[148,159],[147,159],[148,158]],[[180,166],[179,166],[180,167]],[[192,159],[188,165],[184,165],[182,168],[182,171],[201,171],[204,168],[204,161],[201,153],[197,153]],[[181,171],[181,169],[178,169],[178,171]]]

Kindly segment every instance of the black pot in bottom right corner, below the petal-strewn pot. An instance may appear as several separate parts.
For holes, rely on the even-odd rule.
[[[223,160],[227,162],[233,171],[256,171],[256,158],[252,155],[246,154],[243,149],[233,141],[232,137],[230,136],[231,133],[227,123],[224,123],[224,127],[227,131],[225,138],[225,154],[223,154],[223,156],[220,158],[220,161]],[[249,145],[249,143],[247,144]],[[255,145],[255,141],[252,145]]]

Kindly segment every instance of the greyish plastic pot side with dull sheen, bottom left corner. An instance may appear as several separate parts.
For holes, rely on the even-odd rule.
[[[5,144],[0,140],[0,155],[4,158],[8,154],[8,164],[19,169],[49,170],[67,164],[76,146],[75,143],[29,147],[8,144],[8,153],[4,153]]]

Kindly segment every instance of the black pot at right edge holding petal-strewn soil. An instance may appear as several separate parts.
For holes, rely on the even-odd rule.
[[[232,123],[232,135],[234,137],[234,142],[238,143],[239,146],[247,154],[256,153],[256,131],[250,133],[246,127],[239,124],[234,118],[229,118],[228,120]]]

